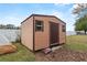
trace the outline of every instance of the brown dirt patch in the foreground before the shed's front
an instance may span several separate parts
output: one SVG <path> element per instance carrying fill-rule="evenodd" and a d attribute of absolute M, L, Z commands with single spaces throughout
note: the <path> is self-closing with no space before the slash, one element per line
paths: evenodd
<path fill-rule="evenodd" d="M 50 54 L 43 52 L 35 53 L 36 62 L 87 62 L 87 52 L 75 52 L 61 47 Z"/>

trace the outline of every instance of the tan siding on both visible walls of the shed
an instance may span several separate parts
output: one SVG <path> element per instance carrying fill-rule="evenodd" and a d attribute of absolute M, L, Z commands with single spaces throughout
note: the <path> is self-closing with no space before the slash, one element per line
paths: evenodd
<path fill-rule="evenodd" d="M 65 23 L 61 22 L 56 18 L 51 17 L 34 17 L 35 20 L 41 20 L 44 23 L 44 31 L 34 32 L 34 48 L 35 51 L 45 48 L 50 46 L 50 22 L 58 23 L 58 40 L 59 44 L 65 43 L 65 32 L 62 32 L 62 25 L 65 25 Z M 33 51 L 33 17 L 28 19 L 25 22 L 21 25 L 21 34 L 22 34 L 22 44 L 29 47 Z M 35 29 L 35 25 L 34 25 Z"/>

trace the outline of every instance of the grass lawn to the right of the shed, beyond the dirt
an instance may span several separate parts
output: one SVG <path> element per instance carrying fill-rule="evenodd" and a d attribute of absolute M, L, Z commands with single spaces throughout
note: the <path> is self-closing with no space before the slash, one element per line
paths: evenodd
<path fill-rule="evenodd" d="M 74 51 L 87 51 L 87 35 L 67 36 L 65 47 Z"/>

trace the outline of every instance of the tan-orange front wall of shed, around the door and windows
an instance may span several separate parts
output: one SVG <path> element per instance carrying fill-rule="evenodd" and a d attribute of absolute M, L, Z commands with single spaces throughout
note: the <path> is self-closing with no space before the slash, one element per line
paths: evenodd
<path fill-rule="evenodd" d="M 61 22 L 56 18 L 51 17 L 34 17 L 35 20 L 41 20 L 44 22 L 44 31 L 35 32 L 35 50 L 41 50 L 50 46 L 50 22 L 58 23 L 59 25 L 59 44 L 65 43 L 65 32 L 62 32 L 62 25 L 65 23 Z"/>

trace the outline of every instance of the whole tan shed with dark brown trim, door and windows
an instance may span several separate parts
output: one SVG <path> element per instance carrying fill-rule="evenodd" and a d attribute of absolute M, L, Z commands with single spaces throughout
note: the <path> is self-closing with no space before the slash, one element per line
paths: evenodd
<path fill-rule="evenodd" d="M 31 51 L 66 42 L 66 23 L 54 15 L 32 14 L 21 23 L 21 41 Z"/>

